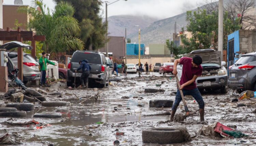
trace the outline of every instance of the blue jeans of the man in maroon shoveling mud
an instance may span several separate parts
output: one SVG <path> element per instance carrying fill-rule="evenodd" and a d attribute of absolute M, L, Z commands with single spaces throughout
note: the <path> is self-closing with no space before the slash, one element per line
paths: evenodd
<path fill-rule="evenodd" d="M 204 101 L 203 101 L 203 97 L 202 95 L 200 94 L 199 90 L 197 88 L 195 89 L 192 89 L 192 90 L 186 90 L 186 89 L 182 89 L 182 92 L 183 92 L 183 95 L 191 95 L 193 96 L 198 105 L 199 105 L 199 109 L 204 109 Z M 181 98 L 181 93 L 180 93 L 180 90 L 177 90 L 177 94 L 176 94 L 176 97 L 175 97 L 175 102 L 172 106 L 172 111 L 176 111 L 177 107 L 179 106 L 180 102 L 182 101 L 182 98 Z"/>

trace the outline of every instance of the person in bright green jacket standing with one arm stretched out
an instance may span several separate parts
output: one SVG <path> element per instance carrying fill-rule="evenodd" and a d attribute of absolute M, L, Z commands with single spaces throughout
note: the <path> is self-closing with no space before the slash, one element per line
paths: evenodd
<path fill-rule="evenodd" d="M 47 70 L 47 63 L 54 65 L 54 62 L 49 61 L 46 57 L 46 53 L 42 52 L 42 57 L 39 58 L 39 65 L 41 69 L 41 78 L 40 78 L 40 86 L 46 86 L 45 85 L 45 78 L 46 78 L 46 70 Z"/>

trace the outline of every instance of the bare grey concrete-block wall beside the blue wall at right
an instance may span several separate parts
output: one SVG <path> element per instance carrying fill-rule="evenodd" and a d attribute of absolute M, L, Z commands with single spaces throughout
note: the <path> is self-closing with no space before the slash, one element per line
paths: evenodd
<path fill-rule="evenodd" d="M 239 48 L 242 53 L 251 53 L 256 51 L 256 31 L 239 31 Z"/>

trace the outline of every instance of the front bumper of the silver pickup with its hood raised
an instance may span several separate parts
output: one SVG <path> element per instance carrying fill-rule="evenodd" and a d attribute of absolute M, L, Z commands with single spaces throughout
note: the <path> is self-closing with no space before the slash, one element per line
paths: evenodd
<path fill-rule="evenodd" d="M 221 82 L 221 79 L 224 79 Z M 211 86 L 204 86 L 203 82 L 210 81 Z M 207 76 L 207 77 L 198 77 L 196 80 L 197 88 L 198 89 L 209 89 L 209 88 L 220 88 L 223 86 L 227 86 L 228 75 L 215 75 L 215 76 Z"/>

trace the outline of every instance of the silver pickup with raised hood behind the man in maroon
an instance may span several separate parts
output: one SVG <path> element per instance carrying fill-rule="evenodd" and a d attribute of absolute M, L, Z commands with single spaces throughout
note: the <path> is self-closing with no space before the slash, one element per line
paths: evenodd
<path fill-rule="evenodd" d="M 184 54 L 184 57 L 193 58 L 194 55 L 200 55 L 203 59 L 201 64 L 203 71 L 202 75 L 196 79 L 198 89 L 220 89 L 221 93 L 228 92 L 228 75 L 225 61 L 221 60 L 221 51 L 215 51 L 214 49 L 200 49 L 194 50 L 188 54 Z M 178 77 L 180 78 L 183 68 L 177 66 Z"/>

